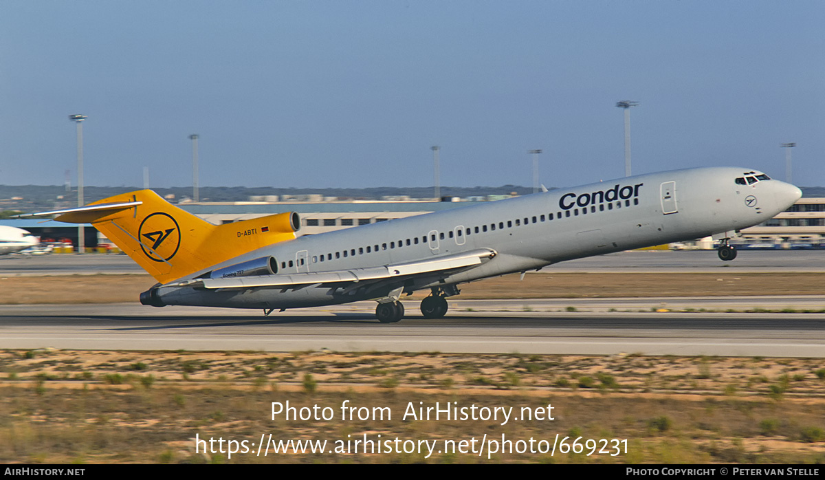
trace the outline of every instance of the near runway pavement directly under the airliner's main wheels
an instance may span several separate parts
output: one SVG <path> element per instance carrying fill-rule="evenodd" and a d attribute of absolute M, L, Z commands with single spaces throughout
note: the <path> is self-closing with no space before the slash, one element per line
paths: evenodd
<path fill-rule="evenodd" d="M 753 303 L 742 299 L 748 300 Z M 798 300 L 823 304 L 821 297 Z M 714 306 L 714 299 L 697 301 Z M 592 302 L 596 310 L 606 308 L 602 300 L 454 301 L 441 320 L 423 319 L 417 304 L 408 302 L 409 318 L 394 324 L 375 320 L 374 302 L 269 318 L 257 311 L 135 304 L 12 305 L 0 314 L 0 348 L 825 357 L 823 314 L 568 312 L 563 307 L 590 308 Z M 787 299 L 757 303 L 769 308 L 786 305 Z"/>

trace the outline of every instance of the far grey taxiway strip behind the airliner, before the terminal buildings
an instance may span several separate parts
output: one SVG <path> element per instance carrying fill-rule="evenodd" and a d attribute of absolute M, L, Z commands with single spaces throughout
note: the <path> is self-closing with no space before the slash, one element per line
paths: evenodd
<path fill-rule="evenodd" d="M 740 251 L 734 261 L 721 261 L 715 251 L 618 252 L 592 256 L 544 267 L 544 273 L 560 272 L 788 272 L 825 271 L 821 250 Z M 0 256 L 0 275 L 143 274 L 128 256 L 106 254 L 51 254 Z"/>

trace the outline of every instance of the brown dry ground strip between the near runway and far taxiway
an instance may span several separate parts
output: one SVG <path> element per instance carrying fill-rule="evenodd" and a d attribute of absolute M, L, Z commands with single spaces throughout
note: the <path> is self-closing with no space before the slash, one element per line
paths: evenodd
<path fill-rule="evenodd" d="M 0 304 L 137 302 L 154 284 L 148 275 L 0 277 Z M 818 295 L 825 292 L 825 273 L 528 273 L 524 280 L 504 275 L 460 289 L 460 299 Z"/>

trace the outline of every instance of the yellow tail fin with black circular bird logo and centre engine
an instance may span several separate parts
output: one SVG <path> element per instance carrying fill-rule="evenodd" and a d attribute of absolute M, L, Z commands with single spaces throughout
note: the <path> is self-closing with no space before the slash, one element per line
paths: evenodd
<path fill-rule="evenodd" d="M 91 223 L 161 283 L 295 238 L 300 226 L 295 213 L 213 225 L 151 190 L 111 196 L 73 210 L 56 220 Z"/>

